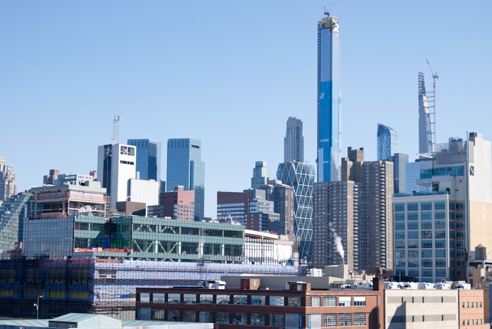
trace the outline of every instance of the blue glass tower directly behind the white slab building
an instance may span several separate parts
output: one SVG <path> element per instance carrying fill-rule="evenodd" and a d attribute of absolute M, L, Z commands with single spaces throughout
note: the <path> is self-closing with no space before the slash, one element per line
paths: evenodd
<path fill-rule="evenodd" d="M 137 147 L 138 178 L 159 182 L 161 142 L 152 139 L 128 139 L 127 144 Z"/>

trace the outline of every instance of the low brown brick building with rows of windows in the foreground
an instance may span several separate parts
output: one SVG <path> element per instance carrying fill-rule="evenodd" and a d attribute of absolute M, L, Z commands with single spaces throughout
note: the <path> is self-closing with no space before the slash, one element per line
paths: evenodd
<path fill-rule="evenodd" d="M 137 288 L 136 319 L 213 322 L 219 329 L 383 326 L 382 279 L 374 279 L 373 290 L 311 290 L 311 283 L 299 281 L 269 289 L 260 280 L 242 278 L 239 288 L 224 288 L 223 281 Z"/>

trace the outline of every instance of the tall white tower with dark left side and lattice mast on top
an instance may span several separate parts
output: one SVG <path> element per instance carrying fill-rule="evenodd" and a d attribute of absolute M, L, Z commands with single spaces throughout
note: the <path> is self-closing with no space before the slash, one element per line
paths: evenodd
<path fill-rule="evenodd" d="M 116 202 L 126 201 L 129 196 L 128 181 L 135 178 L 136 147 L 125 144 L 107 144 L 98 147 L 97 181 L 111 197 L 111 208 Z"/>

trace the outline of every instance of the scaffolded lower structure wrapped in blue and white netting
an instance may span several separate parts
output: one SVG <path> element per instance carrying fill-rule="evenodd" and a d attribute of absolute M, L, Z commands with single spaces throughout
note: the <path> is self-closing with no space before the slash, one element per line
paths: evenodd
<path fill-rule="evenodd" d="M 0 316 L 97 313 L 134 319 L 137 287 L 202 286 L 223 275 L 305 276 L 306 266 L 109 259 L 0 261 Z"/>

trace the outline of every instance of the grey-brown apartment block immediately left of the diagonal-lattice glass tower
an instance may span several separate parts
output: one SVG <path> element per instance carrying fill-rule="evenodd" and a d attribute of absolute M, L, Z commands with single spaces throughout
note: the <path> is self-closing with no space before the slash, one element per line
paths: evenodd
<path fill-rule="evenodd" d="M 267 200 L 274 202 L 274 212 L 280 216 L 280 234 L 294 236 L 295 193 L 294 188 L 279 180 L 269 180 L 260 187 L 265 190 Z"/>

